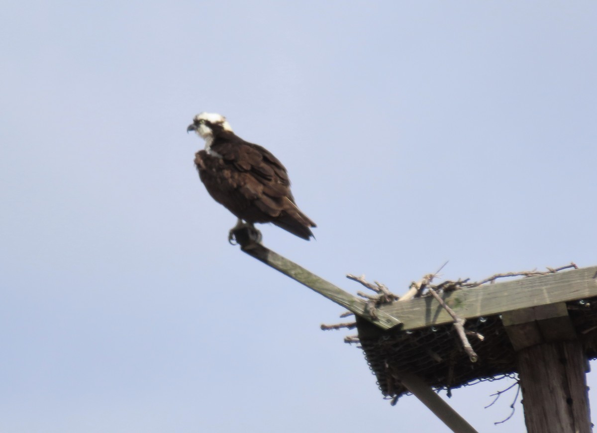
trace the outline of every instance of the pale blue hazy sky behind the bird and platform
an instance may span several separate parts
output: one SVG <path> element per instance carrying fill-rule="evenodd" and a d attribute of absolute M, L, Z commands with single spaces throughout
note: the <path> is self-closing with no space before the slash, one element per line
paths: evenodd
<path fill-rule="evenodd" d="M 341 308 L 227 243 L 201 111 L 318 224 L 346 290 L 597 265 L 595 2 L 11 1 L 0 17 L 0 431 L 443 432 L 382 400 Z M 597 389 L 592 373 L 589 385 Z M 509 422 L 506 380 L 450 403 Z M 596 411 L 593 410 L 593 413 Z"/>

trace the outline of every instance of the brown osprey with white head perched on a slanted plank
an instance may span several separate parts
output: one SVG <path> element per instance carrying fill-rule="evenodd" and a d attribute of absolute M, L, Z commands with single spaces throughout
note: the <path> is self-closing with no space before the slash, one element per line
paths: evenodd
<path fill-rule="evenodd" d="M 224 116 L 199 113 L 187 132 L 205 140 L 205 149 L 195 153 L 199 178 L 210 195 L 235 214 L 232 232 L 254 223 L 273 223 L 309 240 L 315 223 L 294 202 L 286 168 L 259 145 L 245 142 L 232 132 Z M 245 223 L 244 223 L 245 222 Z"/>

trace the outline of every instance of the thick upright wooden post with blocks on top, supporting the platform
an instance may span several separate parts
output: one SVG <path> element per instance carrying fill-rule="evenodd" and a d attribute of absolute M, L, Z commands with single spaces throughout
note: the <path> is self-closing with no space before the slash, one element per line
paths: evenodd
<path fill-rule="evenodd" d="M 512 311 L 503 323 L 517 351 L 528 433 L 590 433 L 587 360 L 566 304 Z"/>

